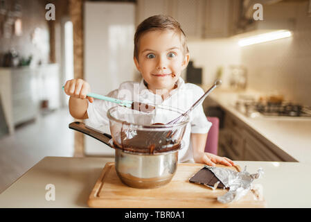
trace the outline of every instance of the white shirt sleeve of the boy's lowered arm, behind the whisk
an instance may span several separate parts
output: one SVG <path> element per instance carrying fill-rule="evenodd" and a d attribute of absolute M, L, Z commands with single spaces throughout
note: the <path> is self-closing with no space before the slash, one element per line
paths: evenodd
<path fill-rule="evenodd" d="M 202 96 L 204 94 L 202 88 L 199 87 L 197 90 L 199 96 Z M 199 99 L 199 96 L 195 99 L 195 101 Z M 197 108 L 193 110 L 192 114 L 193 118 L 191 120 L 191 133 L 201 133 L 201 134 L 208 133 L 208 130 L 211 128 L 212 123 L 207 120 L 202 104 L 198 105 Z"/>

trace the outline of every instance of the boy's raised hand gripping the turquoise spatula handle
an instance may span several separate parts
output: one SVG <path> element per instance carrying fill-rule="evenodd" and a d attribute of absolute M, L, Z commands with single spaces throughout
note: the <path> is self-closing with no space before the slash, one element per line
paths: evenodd
<path fill-rule="evenodd" d="M 80 78 L 74 78 L 66 81 L 66 84 L 64 85 L 64 91 L 69 96 L 80 99 L 88 99 L 90 103 L 93 103 L 94 101 L 92 97 L 87 96 L 87 94 L 91 92 L 89 83 Z"/>

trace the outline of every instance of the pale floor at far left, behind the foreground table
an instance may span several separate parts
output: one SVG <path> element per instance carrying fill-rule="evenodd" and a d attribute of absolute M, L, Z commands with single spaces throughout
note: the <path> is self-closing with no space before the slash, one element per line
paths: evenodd
<path fill-rule="evenodd" d="M 0 194 L 45 156 L 73 156 L 68 109 L 40 116 L 0 138 Z"/>

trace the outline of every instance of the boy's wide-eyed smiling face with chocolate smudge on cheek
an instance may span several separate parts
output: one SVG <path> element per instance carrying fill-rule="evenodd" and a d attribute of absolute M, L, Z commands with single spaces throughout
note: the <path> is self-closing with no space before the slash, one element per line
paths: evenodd
<path fill-rule="evenodd" d="M 137 69 L 148 88 L 172 89 L 177 82 L 181 71 L 189 61 L 184 55 L 179 35 L 172 31 L 150 31 L 139 40 L 139 61 L 134 58 Z"/>

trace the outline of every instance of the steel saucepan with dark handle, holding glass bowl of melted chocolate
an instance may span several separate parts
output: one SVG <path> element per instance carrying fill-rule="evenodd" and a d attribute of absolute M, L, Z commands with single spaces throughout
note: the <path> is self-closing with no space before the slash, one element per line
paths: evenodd
<path fill-rule="evenodd" d="M 118 109 L 112 108 L 107 113 L 112 135 L 88 128 L 82 122 L 70 123 L 69 128 L 115 149 L 116 173 L 125 185 L 149 189 L 168 184 L 177 170 L 178 151 L 188 119 L 173 126 L 141 125 L 122 119 L 117 113 L 124 110 Z M 128 119 L 126 115 L 123 117 Z M 141 121 L 141 117 L 134 119 Z"/>

